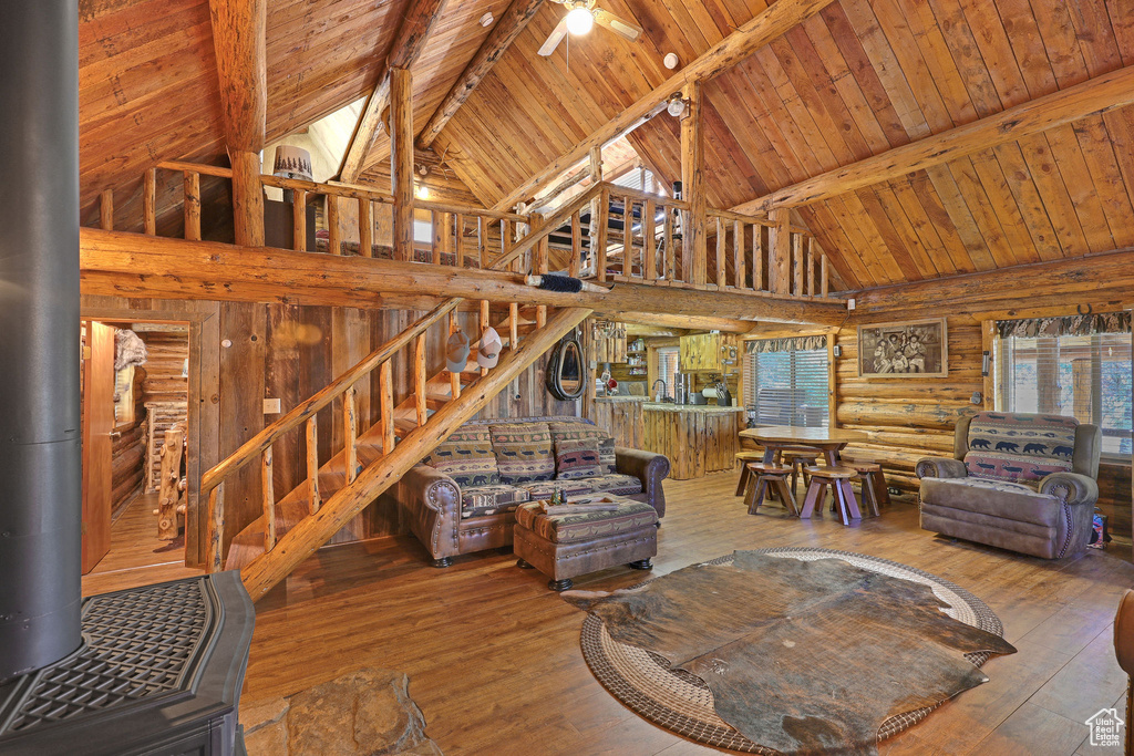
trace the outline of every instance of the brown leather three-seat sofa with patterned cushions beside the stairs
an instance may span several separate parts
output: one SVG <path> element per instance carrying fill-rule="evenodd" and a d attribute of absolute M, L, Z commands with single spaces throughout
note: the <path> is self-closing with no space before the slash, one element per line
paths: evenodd
<path fill-rule="evenodd" d="M 409 528 L 447 567 L 451 557 L 511 544 L 516 508 L 555 491 L 608 493 L 666 513 L 669 460 L 578 417 L 465 423 L 401 477 L 395 495 Z"/>

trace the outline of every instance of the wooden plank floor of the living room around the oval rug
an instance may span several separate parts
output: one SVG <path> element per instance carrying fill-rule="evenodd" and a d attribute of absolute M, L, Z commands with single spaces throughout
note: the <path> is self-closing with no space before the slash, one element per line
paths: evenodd
<path fill-rule="evenodd" d="M 999 614 L 1019 649 L 989 661 L 990 682 L 886 741 L 882 754 L 1107 753 L 1088 745 L 1083 722 L 1103 707 L 1123 711 L 1126 677 L 1115 662 L 1111 621 L 1122 592 L 1134 586 L 1128 551 L 1048 562 L 951 542 L 921 530 L 908 499 L 857 527 L 830 515 L 788 519 L 776 504 L 748 516 L 733 495 L 735 481 L 720 473 L 666 483 L 669 510 L 654 575 L 736 549 L 873 554 L 970 589 Z M 594 680 L 578 649 L 582 614 L 540 575 L 517 569 L 510 553 L 455 561 L 429 567 L 412 536 L 318 552 L 256 605 L 243 703 L 371 665 L 409 676 L 428 733 L 449 756 L 713 753 L 641 720 Z M 130 572 L 113 574 L 116 583 L 129 581 Z M 168 579 L 155 568 L 137 575 L 144 583 Z M 641 579 L 616 568 L 576 583 L 609 589 Z"/>

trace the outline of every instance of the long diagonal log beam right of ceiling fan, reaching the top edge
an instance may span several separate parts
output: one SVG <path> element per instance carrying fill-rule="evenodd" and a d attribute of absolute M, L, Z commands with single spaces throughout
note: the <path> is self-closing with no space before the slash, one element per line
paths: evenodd
<path fill-rule="evenodd" d="M 731 68 L 795 25 L 811 18 L 833 0 L 778 0 L 748 23 L 711 46 L 703 56 L 670 76 L 665 84 L 643 95 L 637 102 L 600 126 L 585 139 L 564 153 L 542 171 L 509 192 L 496 207 L 511 207 L 553 181 L 567 168 L 583 160 L 592 147 L 601 147 L 631 128 L 661 105 L 669 95 L 686 84 L 704 82 Z"/>

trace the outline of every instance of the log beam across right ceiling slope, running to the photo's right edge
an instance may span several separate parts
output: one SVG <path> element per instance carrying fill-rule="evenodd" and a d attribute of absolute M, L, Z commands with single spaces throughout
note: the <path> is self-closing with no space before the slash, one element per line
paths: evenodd
<path fill-rule="evenodd" d="M 820 173 L 739 204 L 733 210 L 754 213 L 821 202 L 1131 103 L 1134 103 L 1134 66 L 1119 68 L 995 116 Z"/>

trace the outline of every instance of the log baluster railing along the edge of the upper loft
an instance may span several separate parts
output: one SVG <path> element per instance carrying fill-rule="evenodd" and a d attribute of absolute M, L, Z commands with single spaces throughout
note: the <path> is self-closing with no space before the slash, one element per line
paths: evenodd
<path fill-rule="evenodd" d="M 143 177 L 143 230 L 156 233 L 156 171 L 183 173 L 185 238 L 201 238 L 201 176 L 231 178 L 231 170 L 186 162 L 163 162 Z M 390 212 L 390 194 L 341 184 L 319 184 L 262 176 L 261 184 L 291 193 L 293 244 L 298 252 L 393 257 L 395 250 L 374 243 L 376 212 Z M 307 207 L 324 197 L 325 218 L 308 249 Z M 100 223 L 113 229 L 113 196 L 100 197 Z M 358 219 L 357 248 L 342 238 L 339 215 L 349 210 Z M 387 210 L 389 207 L 389 211 Z M 558 270 L 599 282 L 623 281 L 651 286 L 771 294 L 790 298 L 829 296 L 829 264 L 806 229 L 752 215 L 709 209 L 704 218 L 708 247 L 696 254 L 686 238 L 692 228 L 691 203 L 649 192 L 599 182 L 547 216 L 507 213 L 472 205 L 415 199 L 415 211 L 428 213 L 429 241 L 415 241 L 412 260 L 459 267 L 494 266 L 508 257 L 513 272 Z M 396 232 L 391 238 L 396 238 Z M 325 244 L 323 239 L 325 238 Z M 711 241 L 711 244 L 709 244 Z M 516 255 L 513 250 L 518 249 Z M 558 264 L 551 265 L 555 257 Z M 700 261 L 700 262 L 699 262 Z M 543 313 L 541 311 L 541 322 Z"/>

